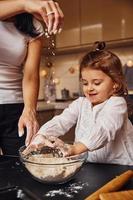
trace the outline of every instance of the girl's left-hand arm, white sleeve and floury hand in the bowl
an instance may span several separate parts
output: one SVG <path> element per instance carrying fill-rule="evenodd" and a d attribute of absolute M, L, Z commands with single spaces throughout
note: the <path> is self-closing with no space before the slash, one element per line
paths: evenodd
<path fill-rule="evenodd" d="M 64 145 L 63 141 L 57 137 L 65 134 L 77 122 L 81 103 L 82 98 L 75 100 L 62 114 L 55 116 L 52 120 L 44 124 L 24 153 L 27 154 L 43 146 L 57 147 Z"/>

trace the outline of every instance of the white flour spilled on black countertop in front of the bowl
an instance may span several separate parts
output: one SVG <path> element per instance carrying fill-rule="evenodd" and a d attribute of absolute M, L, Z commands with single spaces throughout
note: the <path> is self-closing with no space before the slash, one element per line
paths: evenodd
<path fill-rule="evenodd" d="M 63 189 L 58 190 L 50 190 L 47 192 L 44 196 L 45 197 L 55 197 L 55 196 L 64 196 L 68 198 L 73 198 L 74 194 L 77 194 L 79 191 L 83 189 L 83 187 L 88 186 L 88 183 L 72 183 L 69 185 L 69 187 L 65 187 Z"/>

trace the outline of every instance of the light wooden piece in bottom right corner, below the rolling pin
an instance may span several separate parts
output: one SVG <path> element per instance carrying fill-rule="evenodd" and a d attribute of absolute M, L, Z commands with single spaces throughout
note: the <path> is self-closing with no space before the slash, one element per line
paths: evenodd
<path fill-rule="evenodd" d="M 100 194 L 100 200 L 133 200 L 133 190 Z"/>

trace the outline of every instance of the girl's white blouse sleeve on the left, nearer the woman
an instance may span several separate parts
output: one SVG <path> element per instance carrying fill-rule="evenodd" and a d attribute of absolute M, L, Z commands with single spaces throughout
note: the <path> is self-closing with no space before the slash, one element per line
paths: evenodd
<path fill-rule="evenodd" d="M 44 124 L 39 133 L 43 135 L 64 135 L 77 122 L 79 114 L 80 98 L 73 101 L 62 114 L 55 116 L 52 120 Z"/>

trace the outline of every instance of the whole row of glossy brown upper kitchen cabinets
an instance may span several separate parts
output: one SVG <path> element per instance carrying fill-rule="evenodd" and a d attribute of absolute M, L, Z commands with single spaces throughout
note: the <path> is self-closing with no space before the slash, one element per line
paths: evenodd
<path fill-rule="evenodd" d="M 64 29 L 56 37 L 56 48 L 83 48 L 97 40 L 133 38 L 133 1 L 59 1 L 65 15 Z"/>

